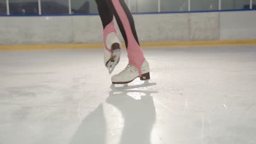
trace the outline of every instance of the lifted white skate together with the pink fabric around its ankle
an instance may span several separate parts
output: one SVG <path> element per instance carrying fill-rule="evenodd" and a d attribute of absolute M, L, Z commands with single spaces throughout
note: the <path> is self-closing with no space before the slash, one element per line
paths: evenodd
<path fill-rule="evenodd" d="M 104 28 L 104 64 L 108 69 L 109 74 L 115 68 L 115 65 L 119 63 L 120 60 L 120 50 L 121 50 L 121 41 L 119 40 L 119 35 L 114 27 L 114 21 L 110 22 Z"/>

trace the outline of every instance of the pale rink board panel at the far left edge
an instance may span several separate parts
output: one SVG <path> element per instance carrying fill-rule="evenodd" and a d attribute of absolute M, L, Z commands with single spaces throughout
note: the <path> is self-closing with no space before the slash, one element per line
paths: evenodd
<path fill-rule="evenodd" d="M 2 45 L 73 42 L 72 17 L 0 17 L 0 21 Z"/>

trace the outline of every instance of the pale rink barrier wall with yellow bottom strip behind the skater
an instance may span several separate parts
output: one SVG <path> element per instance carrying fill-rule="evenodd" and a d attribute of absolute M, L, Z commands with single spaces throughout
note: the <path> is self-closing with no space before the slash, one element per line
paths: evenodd
<path fill-rule="evenodd" d="M 222 45 L 223 40 L 232 40 L 232 44 L 251 44 L 252 41 L 249 39 L 256 39 L 255 10 L 137 14 L 134 15 L 134 19 L 139 41 L 143 47 L 195 46 L 213 43 Z M 2 16 L 0 21 L 2 49 L 7 47 L 13 47 L 8 49 L 16 49 L 15 47 L 53 49 L 53 46 L 56 46 L 55 49 L 61 46 L 62 49 L 102 47 L 102 25 L 98 15 Z"/>

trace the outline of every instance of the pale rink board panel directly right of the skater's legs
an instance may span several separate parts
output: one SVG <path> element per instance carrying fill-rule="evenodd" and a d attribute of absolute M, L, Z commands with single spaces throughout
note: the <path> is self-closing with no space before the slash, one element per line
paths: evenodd
<path fill-rule="evenodd" d="M 135 15 L 138 37 L 143 42 L 188 41 L 189 14 Z"/>

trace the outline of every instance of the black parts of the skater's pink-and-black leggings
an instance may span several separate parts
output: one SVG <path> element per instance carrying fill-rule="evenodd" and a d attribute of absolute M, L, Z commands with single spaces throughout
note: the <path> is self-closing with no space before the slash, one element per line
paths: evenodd
<path fill-rule="evenodd" d="M 135 38 L 135 40 L 137 41 L 137 43 L 139 45 L 137 32 L 136 32 L 136 29 L 135 29 L 135 23 L 133 21 L 131 11 L 127 7 L 124 0 L 119 0 L 119 1 L 120 1 L 120 4 L 121 4 L 121 7 L 123 7 L 123 9 L 125 11 L 125 14 L 128 17 L 128 20 L 130 22 L 133 37 Z M 115 16 L 115 19 L 117 20 L 117 23 L 118 23 L 118 27 L 119 27 L 122 35 L 123 35 L 123 38 L 125 40 L 125 45 L 127 47 L 127 45 L 128 45 L 127 35 L 125 33 L 125 29 L 124 29 L 124 26 L 123 26 L 123 24 L 120 20 L 120 17 L 118 16 L 117 11 L 114 8 L 112 0 L 96 0 L 96 3 L 97 3 L 97 8 L 98 8 L 98 13 L 100 14 L 100 17 L 101 17 L 101 22 L 102 22 L 103 28 L 105 28 L 110 22 L 112 22 L 113 16 Z"/>

